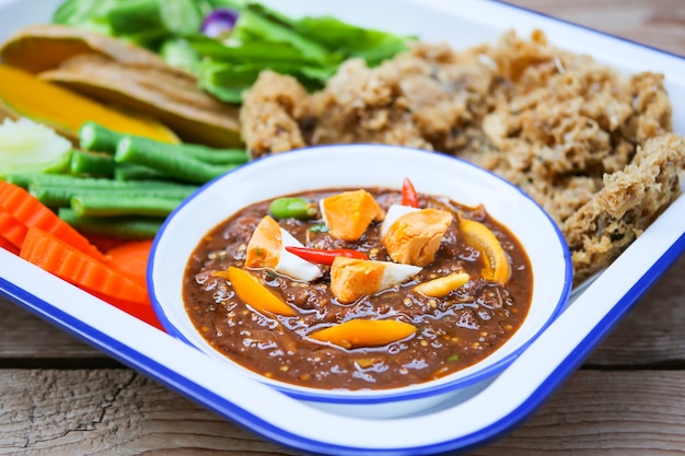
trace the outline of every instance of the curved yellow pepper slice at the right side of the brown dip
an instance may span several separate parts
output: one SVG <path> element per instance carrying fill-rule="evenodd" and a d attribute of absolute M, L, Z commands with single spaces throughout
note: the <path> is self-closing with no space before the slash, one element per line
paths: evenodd
<path fill-rule="evenodd" d="M 511 266 L 495 233 L 480 222 L 463 218 L 460 218 L 460 232 L 464 242 L 480 253 L 485 261 L 481 276 L 500 284 L 507 283 Z"/>

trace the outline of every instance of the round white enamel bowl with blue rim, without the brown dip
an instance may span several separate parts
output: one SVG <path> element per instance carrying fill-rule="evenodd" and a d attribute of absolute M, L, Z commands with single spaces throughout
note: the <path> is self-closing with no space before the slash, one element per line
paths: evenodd
<path fill-rule="evenodd" d="M 519 238 L 533 266 L 529 315 L 514 336 L 479 363 L 443 378 L 382 390 L 326 390 L 275 382 L 241 367 L 208 344 L 182 300 L 188 258 L 200 238 L 242 208 L 265 199 L 325 188 L 398 188 L 405 177 L 423 194 L 486 210 Z M 572 282 L 568 247 L 556 224 L 527 195 L 498 176 L 439 153 L 373 144 L 317 147 L 254 161 L 205 185 L 165 222 L 148 269 L 158 316 L 167 332 L 282 393 L 336 412 L 388 418 L 417 413 L 488 382 L 562 311 Z M 212 375 L 208 372 L 207 375 Z M 227 378 L 230 382 L 230 378 Z M 255 398 L 258 400 L 258 398 Z"/>

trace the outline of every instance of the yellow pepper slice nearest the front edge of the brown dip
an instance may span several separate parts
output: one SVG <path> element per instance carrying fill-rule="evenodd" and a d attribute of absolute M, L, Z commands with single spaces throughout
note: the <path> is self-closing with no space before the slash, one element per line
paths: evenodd
<path fill-rule="evenodd" d="M 416 327 L 394 319 L 351 319 L 310 334 L 312 339 L 353 349 L 382 347 L 416 332 Z"/>

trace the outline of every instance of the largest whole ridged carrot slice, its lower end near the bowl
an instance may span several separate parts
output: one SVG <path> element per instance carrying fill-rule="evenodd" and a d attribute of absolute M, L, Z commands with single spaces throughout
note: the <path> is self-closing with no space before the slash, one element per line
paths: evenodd
<path fill-rule="evenodd" d="M 86 291 L 131 303 L 148 303 L 144 287 L 35 226 L 28 229 L 20 256 Z"/>

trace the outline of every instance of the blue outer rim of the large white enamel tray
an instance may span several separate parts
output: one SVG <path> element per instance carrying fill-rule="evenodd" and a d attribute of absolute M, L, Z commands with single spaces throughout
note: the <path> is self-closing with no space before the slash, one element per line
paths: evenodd
<path fill-rule="evenodd" d="M 565 23 L 579 30 L 585 30 L 599 35 L 608 36 L 619 42 L 630 43 L 632 45 L 651 49 L 660 54 L 669 55 L 678 59 L 684 59 L 673 52 L 653 48 L 641 43 L 618 37 L 605 32 L 596 31 L 588 26 L 578 25 L 570 21 L 565 21 L 544 13 L 529 10 L 526 8 L 514 5 L 501 0 L 488 0 L 492 3 L 500 3 L 508 8 L 525 11 L 532 15 L 543 16 L 552 21 Z M 138 352 L 117 339 L 102 332 L 98 329 L 81 321 L 77 317 L 66 313 L 47 301 L 44 301 L 26 290 L 13 284 L 9 280 L 0 277 L 0 295 L 20 304 L 38 317 L 54 324 L 60 329 L 78 337 L 79 339 L 90 343 L 91 346 L 102 350 L 112 358 L 121 363 L 142 372 L 169 388 L 201 404 L 204 407 L 219 413 L 220 416 L 241 424 L 251 431 L 262 435 L 263 437 L 285 445 L 298 451 L 304 451 L 315 454 L 336 454 L 336 455 L 359 455 L 360 452 L 367 455 L 378 456 L 414 456 L 414 455 L 433 455 L 446 452 L 465 452 L 469 448 L 481 446 L 488 442 L 496 440 L 512 429 L 521 424 L 530 417 L 558 387 L 572 374 L 582 363 L 585 356 L 603 340 L 615 326 L 627 315 L 639 299 L 673 265 L 675 260 L 685 252 L 685 233 L 680 237 L 654 261 L 650 268 L 637 280 L 627 293 L 625 293 L 612 306 L 603 318 L 595 323 L 592 330 L 574 347 L 574 349 L 566 355 L 546 376 L 546 378 L 530 394 L 525 400 L 516 406 L 511 412 L 496 420 L 494 423 L 480 428 L 466 435 L 436 442 L 421 446 L 393 447 L 393 448 L 367 448 L 358 446 L 342 446 L 329 444 L 303 437 L 292 432 L 282 430 L 281 428 L 269 423 L 244 408 L 237 407 L 230 400 L 198 385 L 197 383 L 186 378 L 178 372 L 152 360 L 151 358 Z"/>

